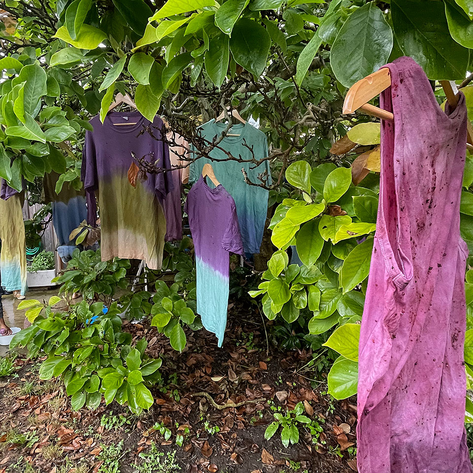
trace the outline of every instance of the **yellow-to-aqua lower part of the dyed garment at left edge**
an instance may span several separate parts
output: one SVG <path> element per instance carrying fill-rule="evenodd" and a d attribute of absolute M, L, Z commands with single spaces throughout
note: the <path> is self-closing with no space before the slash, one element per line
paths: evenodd
<path fill-rule="evenodd" d="M 22 196 L 0 199 L 0 270 L 1 284 L 7 291 L 26 292 L 25 226 L 21 210 Z"/>

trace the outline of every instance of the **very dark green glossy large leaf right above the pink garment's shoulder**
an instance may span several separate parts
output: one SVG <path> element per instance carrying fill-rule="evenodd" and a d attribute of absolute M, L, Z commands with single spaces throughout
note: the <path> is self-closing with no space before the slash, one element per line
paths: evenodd
<path fill-rule="evenodd" d="M 424 69 L 429 79 L 462 79 L 468 68 L 468 49 L 455 42 L 448 30 L 441 1 L 391 2 L 396 39 L 406 56 Z"/>

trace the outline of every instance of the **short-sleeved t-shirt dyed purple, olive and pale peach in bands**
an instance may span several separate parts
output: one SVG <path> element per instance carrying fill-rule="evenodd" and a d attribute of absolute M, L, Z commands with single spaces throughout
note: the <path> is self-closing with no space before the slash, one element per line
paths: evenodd
<path fill-rule="evenodd" d="M 124 120 L 136 125 L 115 126 Z M 89 224 L 95 224 L 94 194 L 98 191 L 101 219 L 102 261 L 113 257 L 143 260 L 148 268 L 160 269 L 163 260 L 166 219 L 162 203 L 172 189 L 168 173 L 145 174 L 136 187 L 128 169 L 136 157 L 170 169 L 169 148 L 162 138 L 163 121 L 151 124 L 139 112 L 109 112 L 102 124 L 96 116 L 86 132 L 82 181 L 88 194 Z M 144 130 L 151 126 L 154 139 Z M 161 139 L 160 139 L 161 138 Z"/>

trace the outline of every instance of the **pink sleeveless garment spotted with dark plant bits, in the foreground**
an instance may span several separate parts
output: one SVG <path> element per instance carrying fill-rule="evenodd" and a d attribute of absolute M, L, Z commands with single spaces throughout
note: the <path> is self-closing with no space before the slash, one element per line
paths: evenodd
<path fill-rule="evenodd" d="M 471 473 L 466 434 L 462 95 L 444 113 L 400 58 L 381 107 L 381 186 L 358 375 L 360 473 Z"/>

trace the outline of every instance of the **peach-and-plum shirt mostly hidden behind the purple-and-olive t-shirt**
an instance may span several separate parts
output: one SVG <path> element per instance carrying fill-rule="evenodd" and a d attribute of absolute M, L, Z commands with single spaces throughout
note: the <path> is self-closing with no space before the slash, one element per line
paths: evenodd
<path fill-rule="evenodd" d="M 189 143 L 180 135 L 169 132 L 167 137 L 175 146 L 169 147 L 171 167 L 184 166 L 189 153 Z M 173 169 L 170 172 L 172 191 L 166 196 L 164 214 L 166 216 L 166 241 L 182 239 L 182 184 L 189 180 L 189 167 Z"/>

